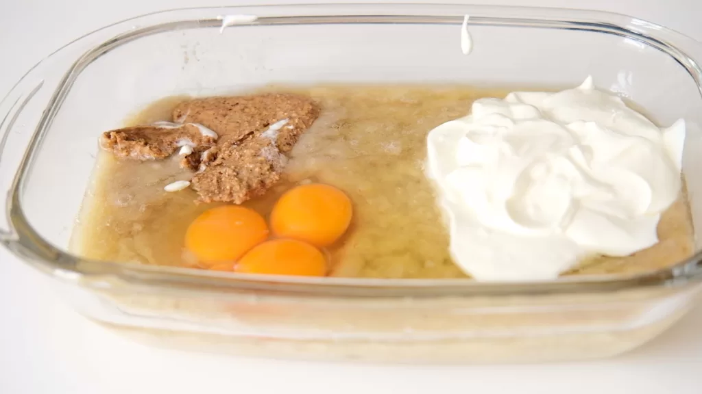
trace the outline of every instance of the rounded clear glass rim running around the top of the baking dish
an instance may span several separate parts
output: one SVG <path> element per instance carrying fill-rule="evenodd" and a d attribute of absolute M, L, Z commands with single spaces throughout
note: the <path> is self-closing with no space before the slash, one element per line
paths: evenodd
<path fill-rule="evenodd" d="M 267 15 L 271 11 L 298 11 L 294 15 Z M 319 11 L 321 10 L 321 11 Z M 383 11 L 380 15 L 373 12 Z M 190 13 L 212 12 L 210 18 L 188 18 Z M 234 11 L 234 12 L 226 12 Z M 236 12 L 239 11 L 239 12 Z M 256 12 L 259 11 L 259 12 Z M 263 14 L 261 13 L 263 12 Z M 307 11 L 307 13 L 303 13 Z M 311 11 L 318 11 L 313 13 Z M 344 13 L 341 13 L 344 11 Z M 431 11 L 428 13 L 428 11 Z M 459 12 L 461 11 L 461 12 Z M 702 70 L 696 61 L 680 46 L 698 50 L 702 46 L 683 34 L 661 27 L 651 22 L 628 15 L 603 11 L 570 10 L 565 8 L 532 8 L 512 6 L 471 6 L 459 4 L 297 4 L 232 7 L 197 7 L 157 11 L 129 18 L 121 22 L 97 29 L 68 43 L 46 57 L 25 74 L 20 83 L 32 74 L 39 65 L 47 62 L 62 50 L 75 43 L 88 39 L 108 29 L 123 27 L 121 32 L 110 39 L 86 50 L 62 77 L 58 88 L 44 109 L 37 128 L 30 138 L 26 151 L 15 172 L 8 191 L 7 212 L 11 233 L 0 231 L 0 243 L 15 252 L 20 259 L 26 259 L 41 271 L 60 280 L 69 280 L 86 287 L 105 288 L 117 285 L 119 281 L 127 285 L 143 285 L 154 288 L 180 288 L 199 291 L 216 289 L 254 290 L 276 294 L 310 294 L 340 297 L 446 297 L 459 295 L 515 295 L 569 292 L 607 292 L 651 286 L 672 286 L 696 283 L 702 279 L 702 251 L 680 261 L 674 266 L 645 273 L 630 275 L 566 276 L 545 282 L 486 283 L 471 279 L 372 279 L 372 278 L 298 278 L 286 276 L 256 276 L 235 273 L 219 273 L 176 267 L 121 264 L 112 261 L 93 261 L 74 256 L 60 250 L 44 240 L 29 224 L 22 212 L 21 193 L 25 180 L 32 170 L 34 157 L 41 140 L 51 127 L 53 116 L 61 107 L 72 83 L 88 64 L 117 46 L 150 34 L 175 29 L 220 27 L 222 22 L 215 15 L 232 13 L 253 13 L 259 15 L 255 22 L 244 25 L 314 25 L 331 23 L 403 23 L 403 24 L 451 24 L 460 25 L 463 15 L 471 15 L 470 25 L 494 25 L 512 27 L 541 27 L 550 29 L 575 29 L 588 32 L 614 34 L 635 39 L 648 46 L 663 51 L 673 57 L 687 70 L 702 94 Z M 488 15 L 488 16 L 482 16 Z M 490 16 L 492 15 L 492 16 Z M 496 16 L 500 15 L 500 16 Z M 165 19 L 150 22 L 150 19 Z M 625 25 L 631 22 L 632 25 Z M 140 27 L 136 27 L 140 26 Z M 665 37 L 663 37 L 665 36 Z M 661 37 L 661 38 L 659 38 Z M 667 39 L 667 40 L 666 40 Z M 675 45 L 677 43 L 677 45 Z M 41 84 L 25 95 L 23 101 L 13 104 L 17 114 L 39 90 Z M 11 99 L 8 94 L 2 103 Z M 20 97 L 21 98 L 21 97 Z M 0 107 L 2 107 L 0 106 Z M 8 113 L 9 115 L 9 113 Z M 9 130 L 14 117 L 6 116 L 2 123 Z M 1 126 L 1 125 L 0 125 Z M 4 149 L 7 134 L 0 139 L 0 153 Z M 117 279 L 115 282 L 112 279 Z"/>

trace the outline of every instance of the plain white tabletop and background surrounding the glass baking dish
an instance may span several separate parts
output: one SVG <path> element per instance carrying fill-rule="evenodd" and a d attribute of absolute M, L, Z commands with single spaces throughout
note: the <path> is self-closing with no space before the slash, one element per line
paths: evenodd
<path fill-rule="evenodd" d="M 44 55 L 93 29 L 168 8 L 237 3 L 0 0 L 0 95 Z M 696 0 L 482 4 L 614 11 L 702 39 L 702 1 Z M 702 393 L 702 332 L 698 327 L 702 327 L 702 307 L 638 351 L 612 360 L 557 365 L 408 367 L 181 353 L 134 344 L 85 320 L 57 299 L 48 278 L 0 249 L 0 394 Z"/>

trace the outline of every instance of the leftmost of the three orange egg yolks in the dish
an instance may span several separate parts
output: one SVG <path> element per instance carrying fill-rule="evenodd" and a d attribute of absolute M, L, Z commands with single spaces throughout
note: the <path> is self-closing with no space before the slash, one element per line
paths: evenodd
<path fill-rule="evenodd" d="M 206 210 L 187 228 L 185 248 L 203 264 L 238 259 L 268 237 L 258 212 L 225 205 Z"/>

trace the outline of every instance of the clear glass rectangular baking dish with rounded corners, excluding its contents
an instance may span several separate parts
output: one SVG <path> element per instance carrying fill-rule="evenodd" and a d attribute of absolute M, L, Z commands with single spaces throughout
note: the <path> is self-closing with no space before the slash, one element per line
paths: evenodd
<path fill-rule="evenodd" d="M 220 31 L 222 15 L 257 20 Z M 473 52 L 460 50 L 470 15 Z M 362 4 L 192 8 L 69 43 L 0 104 L 0 239 L 78 311 L 136 339 L 248 355 L 390 362 L 520 362 L 628 351 L 698 292 L 700 254 L 648 273 L 548 283 L 237 276 L 67 252 L 97 137 L 161 97 L 267 83 L 576 86 L 592 75 L 658 123 L 684 118 L 684 174 L 702 219 L 701 46 L 610 13 Z M 698 201 L 701 200 L 701 201 Z M 5 264 L 7 264 L 5 262 Z"/>

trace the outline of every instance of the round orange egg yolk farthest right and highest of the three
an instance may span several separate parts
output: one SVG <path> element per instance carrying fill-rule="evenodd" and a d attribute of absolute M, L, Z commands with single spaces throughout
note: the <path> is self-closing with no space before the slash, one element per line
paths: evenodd
<path fill-rule="evenodd" d="M 277 236 L 331 245 L 351 222 L 350 199 L 336 187 L 305 184 L 286 191 L 274 205 L 270 226 Z"/>

